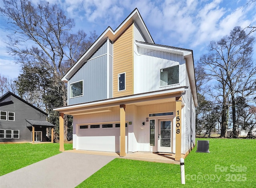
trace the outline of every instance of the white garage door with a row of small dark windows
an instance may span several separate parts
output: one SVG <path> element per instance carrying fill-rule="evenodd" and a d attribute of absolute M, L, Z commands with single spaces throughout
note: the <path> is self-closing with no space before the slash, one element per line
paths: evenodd
<path fill-rule="evenodd" d="M 128 127 L 126 123 L 126 152 L 128 146 Z M 120 152 L 120 124 L 79 125 L 77 137 L 78 150 Z"/>

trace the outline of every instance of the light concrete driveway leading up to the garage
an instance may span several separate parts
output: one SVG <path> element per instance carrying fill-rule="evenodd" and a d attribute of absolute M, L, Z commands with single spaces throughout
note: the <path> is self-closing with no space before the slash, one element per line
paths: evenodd
<path fill-rule="evenodd" d="M 114 158 L 62 152 L 0 176 L 0 188 L 74 188 Z"/>

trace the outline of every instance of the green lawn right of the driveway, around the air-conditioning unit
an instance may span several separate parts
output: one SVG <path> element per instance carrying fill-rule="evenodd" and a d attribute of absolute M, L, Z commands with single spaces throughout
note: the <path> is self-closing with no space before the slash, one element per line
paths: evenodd
<path fill-rule="evenodd" d="M 198 140 L 210 141 L 210 153 L 195 147 L 185 158 L 185 185 L 177 164 L 116 158 L 77 187 L 255 187 L 256 140 Z"/>

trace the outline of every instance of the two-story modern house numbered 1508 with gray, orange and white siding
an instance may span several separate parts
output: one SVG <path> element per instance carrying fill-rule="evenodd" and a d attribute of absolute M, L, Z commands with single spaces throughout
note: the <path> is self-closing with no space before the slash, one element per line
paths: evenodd
<path fill-rule="evenodd" d="M 108 27 L 63 76 L 73 116 L 73 148 L 187 155 L 195 142 L 193 52 L 155 44 L 135 9 Z M 60 136 L 60 150 L 64 150 Z"/>

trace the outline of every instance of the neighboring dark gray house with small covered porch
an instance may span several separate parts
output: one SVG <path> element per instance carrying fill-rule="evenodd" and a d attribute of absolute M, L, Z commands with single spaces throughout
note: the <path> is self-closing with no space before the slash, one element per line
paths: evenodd
<path fill-rule="evenodd" d="M 0 142 L 48 141 L 46 128 L 52 128 L 53 135 L 55 125 L 46 121 L 47 116 L 44 111 L 8 91 L 0 98 Z"/>

